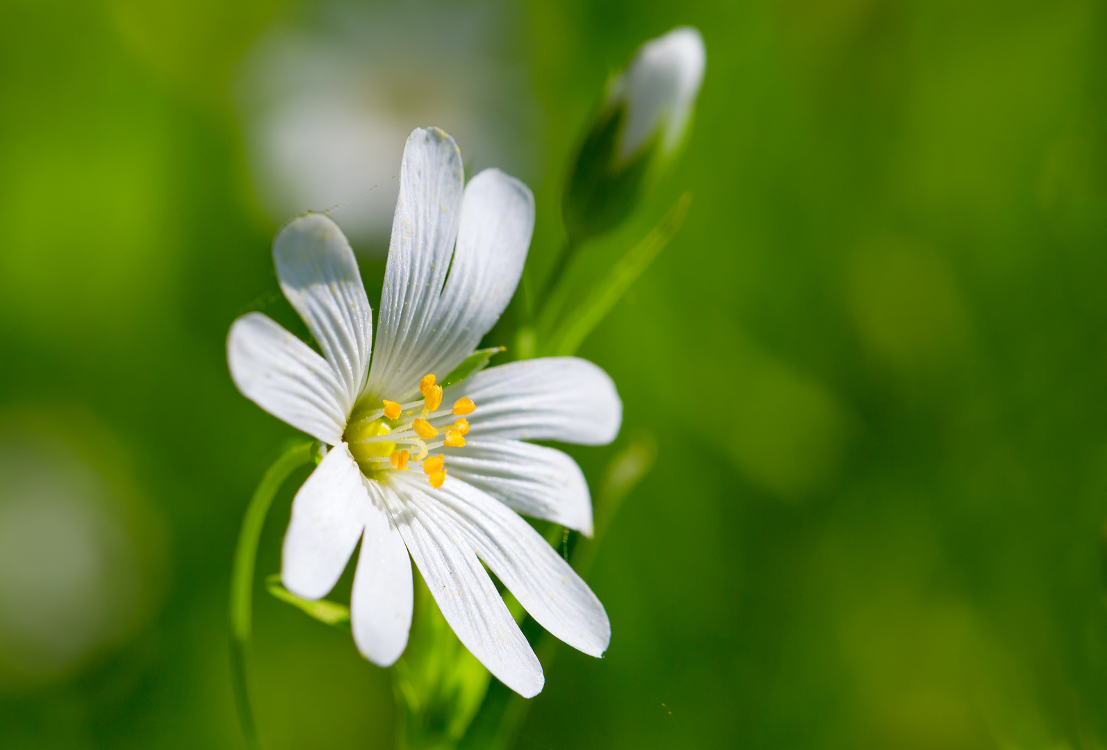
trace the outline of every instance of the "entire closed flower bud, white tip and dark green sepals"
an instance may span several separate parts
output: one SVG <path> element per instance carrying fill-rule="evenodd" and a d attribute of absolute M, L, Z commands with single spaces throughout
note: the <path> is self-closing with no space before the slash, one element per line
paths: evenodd
<path fill-rule="evenodd" d="M 566 183 L 562 216 L 572 241 L 621 223 L 672 160 L 705 64 L 700 32 L 680 27 L 644 43 L 611 81 Z"/>

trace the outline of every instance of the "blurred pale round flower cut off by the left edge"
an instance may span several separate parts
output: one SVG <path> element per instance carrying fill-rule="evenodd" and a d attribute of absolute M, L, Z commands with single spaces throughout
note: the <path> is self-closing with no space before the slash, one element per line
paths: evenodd
<path fill-rule="evenodd" d="M 153 570 L 127 502 L 64 441 L 0 425 L 0 666 L 69 673 L 148 611 Z"/>

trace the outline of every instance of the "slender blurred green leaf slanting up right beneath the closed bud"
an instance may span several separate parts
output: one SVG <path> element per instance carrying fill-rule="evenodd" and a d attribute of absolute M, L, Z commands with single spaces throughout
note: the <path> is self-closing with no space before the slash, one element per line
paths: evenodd
<path fill-rule="evenodd" d="M 615 303 L 642 275 L 658 253 L 669 243 L 687 216 L 692 196 L 685 192 L 669 213 L 645 237 L 635 242 L 622 258 L 589 291 L 584 301 L 557 325 L 541 343 L 542 354 L 566 356 L 576 354 L 588 334 L 611 312 Z"/>

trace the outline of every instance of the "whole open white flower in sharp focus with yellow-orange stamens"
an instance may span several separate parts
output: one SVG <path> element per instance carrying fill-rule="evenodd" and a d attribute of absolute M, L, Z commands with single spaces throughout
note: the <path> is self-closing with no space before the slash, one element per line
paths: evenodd
<path fill-rule="evenodd" d="M 454 139 L 415 129 L 370 366 L 372 312 L 353 252 L 327 217 L 273 243 L 281 289 L 323 356 L 260 313 L 227 342 L 239 390 L 331 446 L 292 503 L 281 579 L 325 595 L 354 546 L 353 637 L 371 662 L 403 653 L 414 559 L 443 616 L 488 670 L 524 696 L 544 677 L 482 562 L 555 636 L 600 656 L 611 627 L 588 585 L 515 511 L 590 534 L 588 486 L 571 458 L 523 440 L 602 445 L 622 404 L 576 357 L 489 367 L 443 388 L 511 299 L 534 229 L 534 197 L 496 169 L 464 186 Z"/>

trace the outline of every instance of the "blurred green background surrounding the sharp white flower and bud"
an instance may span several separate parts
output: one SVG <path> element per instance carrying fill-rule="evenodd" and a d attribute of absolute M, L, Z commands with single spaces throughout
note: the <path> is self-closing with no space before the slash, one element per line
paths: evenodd
<path fill-rule="evenodd" d="M 682 23 L 707 73 L 656 200 L 694 201 L 581 352 L 623 437 L 573 451 L 593 481 L 643 430 L 659 459 L 590 575 L 611 648 L 561 650 L 518 747 L 1107 746 L 1104 3 L 0 11 L 0 747 L 242 747 L 231 551 L 296 436 L 224 342 L 251 309 L 296 325 L 269 244 L 329 208 L 276 195 L 313 131 L 272 113 L 375 72 L 350 131 L 392 107 L 381 181 L 442 125 L 535 189 L 540 272 L 607 76 Z M 375 305 L 380 226 L 351 236 Z M 255 663 L 270 747 L 392 747 L 387 675 L 260 585 Z"/>

